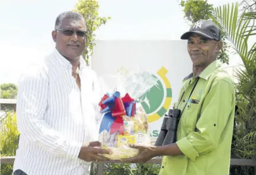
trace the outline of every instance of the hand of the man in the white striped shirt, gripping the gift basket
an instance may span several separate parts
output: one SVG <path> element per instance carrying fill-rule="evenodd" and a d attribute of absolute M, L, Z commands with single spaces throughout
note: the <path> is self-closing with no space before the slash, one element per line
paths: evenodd
<path fill-rule="evenodd" d="M 98 141 L 85 142 L 80 150 L 78 158 L 84 161 L 107 161 L 108 158 L 98 154 L 111 154 L 111 151 L 100 148 L 101 144 Z"/>

